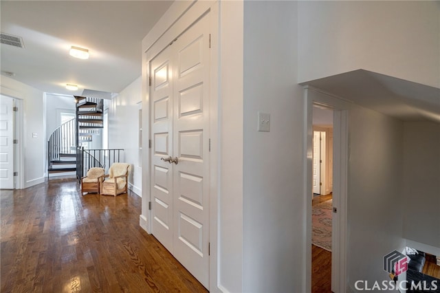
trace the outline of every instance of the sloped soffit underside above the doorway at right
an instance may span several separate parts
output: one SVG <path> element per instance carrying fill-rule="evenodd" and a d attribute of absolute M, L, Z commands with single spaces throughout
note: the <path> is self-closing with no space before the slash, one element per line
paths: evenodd
<path fill-rule="evenodd" d="M 440 123 L 440 89 L 437 87 L 363 69 L 311 80 L 303 85 L 322 89 L 399 120 Z"/>

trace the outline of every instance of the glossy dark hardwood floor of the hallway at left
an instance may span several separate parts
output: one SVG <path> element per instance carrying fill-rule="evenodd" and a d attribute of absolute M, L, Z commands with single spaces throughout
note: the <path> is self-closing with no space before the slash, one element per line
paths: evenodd
<path fill-rule="evenodd" d="M 51 178 L 0 196 L 1 292 L 207 292 L 140 228 L 134 193 Z"/>

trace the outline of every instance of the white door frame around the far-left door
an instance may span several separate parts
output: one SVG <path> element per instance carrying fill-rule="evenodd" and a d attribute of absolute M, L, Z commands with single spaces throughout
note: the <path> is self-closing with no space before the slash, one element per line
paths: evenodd
<path fill-rule="evenodd" d="M 19 91 L 8 89 L 7 87 L 0 87 L 0 94 L 12 98 L 14 100 L 14 107 L 18 108 L 18 111 L 14 113 L 14 139 L 18 140 L 17 146 L 14 146 L 14 172 L 18 172 L 17 176 L 14 176 L 14 189 L 25 188 L 25 166 L 23 160 L 23 145 L 24 145 L 24 122 L 23 111 L 25 96 Z"/>

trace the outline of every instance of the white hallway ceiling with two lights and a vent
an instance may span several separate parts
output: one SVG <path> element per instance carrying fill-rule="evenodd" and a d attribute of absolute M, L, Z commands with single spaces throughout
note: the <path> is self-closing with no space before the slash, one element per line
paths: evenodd
<path fill-rule="evenodd" d="M 1 44 L 1 74 L 52 94 L 119 93 L 141 75 L 142 39 L 171 3 L 1 0 L 1 32 L 24 44 Z M 72 45 L 90 58 L 69 56 Z"/>

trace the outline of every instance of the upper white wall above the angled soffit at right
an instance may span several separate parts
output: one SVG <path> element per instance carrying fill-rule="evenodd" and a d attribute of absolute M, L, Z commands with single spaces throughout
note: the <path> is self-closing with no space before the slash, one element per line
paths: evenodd
<path fill-rule="evenodd" d="M 366 69 L 440 86 L 438 1 L 299 1 L 299 80 Z"/>

